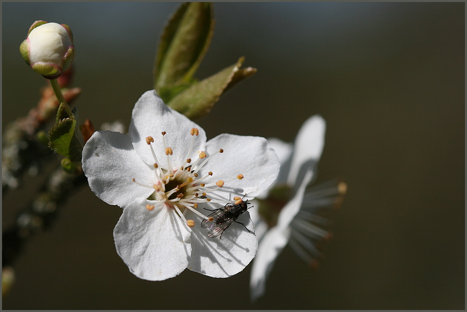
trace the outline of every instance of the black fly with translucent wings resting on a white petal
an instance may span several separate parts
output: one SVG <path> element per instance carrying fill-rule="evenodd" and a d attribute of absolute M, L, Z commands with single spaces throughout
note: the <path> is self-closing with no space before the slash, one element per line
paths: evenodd
<path fill-rule="evenodd" d="M 221 235 L 222 238 L 222 233 L 234 222 L 237 222 L 237 218 L 249 208 L 248 204 L 251 203 L 248 200 L 243 201 L 240 197 L 234 197 L 234 200 L 235 203 L 226 203 L 222 208 L 214 210 L 205 208 L 206 210 L 214 211 L 208 215 L 208 217 L 213 218 L 212 221 L 208 219 L 201 221 L 201 227 L 209 227 L 208 237 L 214 238 Z M 242 224 L 251 233 L 245 224 L 241 222 L 237 223 Z"/>

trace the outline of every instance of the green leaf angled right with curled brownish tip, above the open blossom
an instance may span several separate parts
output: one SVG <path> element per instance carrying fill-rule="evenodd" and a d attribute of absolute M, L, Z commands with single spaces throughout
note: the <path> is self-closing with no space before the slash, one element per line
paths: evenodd
<path fill-rule="evenodd" d="M 234 84 L 256 72 L 255 68 L 240 68 L 244 57 L 214 75 L 194 83 L 167 103 L 190 119 L 203 117 L 219 100 L 219 96 Z"/>

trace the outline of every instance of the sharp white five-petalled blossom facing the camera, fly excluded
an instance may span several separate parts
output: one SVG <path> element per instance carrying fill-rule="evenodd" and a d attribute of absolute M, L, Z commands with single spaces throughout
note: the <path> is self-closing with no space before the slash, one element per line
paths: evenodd
<path fill-rule="evenodd" d="M 135 104 L 129 135 L 97 131 L 83 149 L 94 193 L 123 207 L 114 229 L 118 254 L 136 276 L 163 280 L 186 267 L 213 277 L 241 271 L 257 239 L 248 211 L 222 235 L 200 226 L 206 209 L 251 199 L 272 184 L 279 159 L 263 137 L 204 130 L 165 105 L 154 90 Z M 251 230 L 252 232 L 250 232 Z"/>

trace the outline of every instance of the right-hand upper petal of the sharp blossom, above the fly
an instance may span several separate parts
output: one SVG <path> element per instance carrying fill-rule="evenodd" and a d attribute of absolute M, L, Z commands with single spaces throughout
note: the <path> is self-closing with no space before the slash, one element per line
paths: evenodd
<path fill-rule="evenodd" d="M 201 175 L 212 171 L 213 175 L 205 183 L 225 181 L 215 193 L 224 199 L 229 194 L 245 198 L 256 197 L 265 191 L 279 173 L 279 158 L 264 137 L 220 134 L 206 143 L 208 155 L 224 149 L 208 160 L 200 170 Z M 243 174 L 243 179 L 236 176 Z"/>

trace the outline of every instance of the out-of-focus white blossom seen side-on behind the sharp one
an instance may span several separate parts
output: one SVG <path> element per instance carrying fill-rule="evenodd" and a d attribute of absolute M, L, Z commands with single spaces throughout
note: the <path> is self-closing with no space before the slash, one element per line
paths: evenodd
<path fill-rule="evenodd" d="M 325 127 L 324 119 L 315 115 L 303 123 L 295 144 L 269 139 L 281 168 L 275 183 L 253 201 L 250 209 L 259 240 L 250 276 L 252 300 L 264 293 L 266 278 L 287 243 L 314 265 L 314 258 L 320 255 L 315 242 L 329 238 L 329 232 L 313 224 L 325 224 L 326 219 L 314 212 L 338 202 L 345 183 L 331 181 L 306 190 L 324 147 Z"/>

